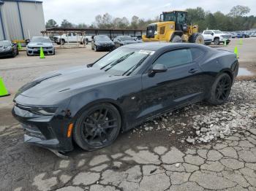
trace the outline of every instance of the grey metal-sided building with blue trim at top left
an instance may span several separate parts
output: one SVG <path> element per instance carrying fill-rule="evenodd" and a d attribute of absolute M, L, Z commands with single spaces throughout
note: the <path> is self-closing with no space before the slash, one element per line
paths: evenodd
<path fill-rule="evenodd" d="M 42 1 L 0 0 L 0 40 L 42 36 L 45 17 Z"/>

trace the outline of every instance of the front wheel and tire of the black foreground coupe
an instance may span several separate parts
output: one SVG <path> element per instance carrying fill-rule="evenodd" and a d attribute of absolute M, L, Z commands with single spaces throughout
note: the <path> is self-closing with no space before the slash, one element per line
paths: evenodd
<path fill-rule="evenodd" d="M 92 151 L 112 144 L 121 129 L 121 116 L 112 104 L 85 109 L 75 122 L 73 138 L 84 150 Z"/>

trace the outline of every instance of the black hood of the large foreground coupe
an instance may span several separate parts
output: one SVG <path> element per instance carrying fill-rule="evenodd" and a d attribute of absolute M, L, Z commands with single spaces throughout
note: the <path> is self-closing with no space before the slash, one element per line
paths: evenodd
<path fill-rule="evenodd" d="M 124 77 L 111 76 L 97 68 L 78 66 L 62 71 L 55 71 L 34 79 L 18 90 L 18 94 L 30 98 L 49 98 L 72 95 L 84 90 L 90 90 L 97 85 L 111 82 Z M 16 95 L 17 96 L 17 95 Z"/>

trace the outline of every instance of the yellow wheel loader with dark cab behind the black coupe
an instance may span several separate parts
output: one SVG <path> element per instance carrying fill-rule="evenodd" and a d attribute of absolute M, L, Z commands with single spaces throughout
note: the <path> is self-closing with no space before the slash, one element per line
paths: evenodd
<path fill-rule="evenodd" d="M 143 42 L 192 42 L 204 44 L 198 26 L 187 25 L 186 11 L 162 12 L 158 23 L 147 26 Z"/>

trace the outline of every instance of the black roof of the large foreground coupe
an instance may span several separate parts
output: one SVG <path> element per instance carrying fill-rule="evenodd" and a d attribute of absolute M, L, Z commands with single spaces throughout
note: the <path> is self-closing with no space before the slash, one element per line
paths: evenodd
<path fill-rule="evenodd" d="M 145 43 L 136 43 L 136 44 L 128 44 L 123 47 L 134 48 L 139 50 L 153 50 L 157 51 L 159 49 L 172 49 L 178 47 L 204 47 L 201 44 L 195 43 L 170 43 L 170 42 L 145 42 Z"/>

